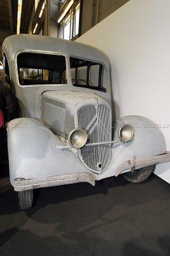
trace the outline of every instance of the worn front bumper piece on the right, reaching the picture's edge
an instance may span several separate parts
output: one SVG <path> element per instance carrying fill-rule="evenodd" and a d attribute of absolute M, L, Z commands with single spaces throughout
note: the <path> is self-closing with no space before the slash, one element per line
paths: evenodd
<path fill-rule="evenodd" d="M 132 156 L 131 160 L 125 161 L 124 163 L 120 164 L 120 166 L 118 166 L 115 172 L 115 176 L 117 177 L 121 172 L 125 170 L 134 171 L 136 168 L 142 168 L 145 166 L 165 163 L 169 161 L 170 161 L 170 151 L 167 151 L 166 154 L 162 154 L 159 156 L 152 156 L 152 157 L 136 158 L 135 156 Z"/>

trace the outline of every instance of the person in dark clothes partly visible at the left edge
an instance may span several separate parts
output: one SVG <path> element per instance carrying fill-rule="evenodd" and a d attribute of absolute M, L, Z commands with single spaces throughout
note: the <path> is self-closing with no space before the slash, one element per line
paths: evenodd
<path fill-rule="evenodd" d="M 16 113 L 15 98 L 5 82 L 5 77 L 4 70 L 0 70 L 0 162 L 5 156 L 6 127 Z"/>

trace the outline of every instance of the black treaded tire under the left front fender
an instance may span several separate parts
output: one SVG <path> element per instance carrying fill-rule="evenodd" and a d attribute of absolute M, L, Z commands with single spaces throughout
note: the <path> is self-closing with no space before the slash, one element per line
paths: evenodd
<path fill-rule="evenodd" d="M 33 202 L 33 191 L 32 189 L 25 191 L 17 191 L 18 203 L 21 210 L 28 209 L 32 207 Z"/>

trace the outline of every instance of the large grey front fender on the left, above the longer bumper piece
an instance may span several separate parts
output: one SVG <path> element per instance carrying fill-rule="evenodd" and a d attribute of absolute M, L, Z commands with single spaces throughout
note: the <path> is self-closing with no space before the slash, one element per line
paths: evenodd
<path fill-rule="evenodd" d="M 62 142 L 45 125 L 32 118 L 8 124 L 10 180 L 38 179 L 54 175 L 89 172 L 71 149 L 59 150 Z"/>

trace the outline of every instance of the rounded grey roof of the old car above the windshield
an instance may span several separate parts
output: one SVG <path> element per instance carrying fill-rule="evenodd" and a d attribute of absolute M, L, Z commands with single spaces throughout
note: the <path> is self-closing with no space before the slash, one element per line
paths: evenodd
<path fill-rule="evenodd" d="M 8 60 L 13 61 L 18 51 L 60 52 L 68 56 L 76 56 L 89 60 L 96 60 L 108 65 L 108 56 L 103 51 L 90 45 L 81 44 L 60 38 L 41 35 L 12 35 L 5 38 L 3 51 L 8 54 Z"/>

